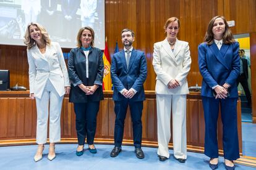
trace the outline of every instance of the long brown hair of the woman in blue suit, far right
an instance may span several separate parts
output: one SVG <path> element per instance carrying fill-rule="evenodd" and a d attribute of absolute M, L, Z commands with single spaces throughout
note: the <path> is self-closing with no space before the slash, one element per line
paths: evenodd
<path fill-rule="evenodd" d="M 205 38 L 203 38 L 203 41 L 207 42 L 208 45 L 213 44 L 213 36 L 214 36 L 213 35 L 213 25 L 214 25 L 216 18 L 223 19 L 224 24 L 225 24 L 225 30 L 223 33 L 223 43 L 224 44 L 232 44 L 233 42 L 235 42 L 233 34 L 231 33 L 231 30 L 229 29 L 226 19 L 223 16 L 219 16 L 219 15 L 213 17 L 210 20 L 210 22 L 208 24 L 208 29 L 207 29 L 207 32 L 205 33 Z"/>

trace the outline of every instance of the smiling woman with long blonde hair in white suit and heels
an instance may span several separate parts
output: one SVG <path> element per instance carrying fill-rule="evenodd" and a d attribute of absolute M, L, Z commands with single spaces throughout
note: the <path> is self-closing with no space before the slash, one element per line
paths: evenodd
<path fill-rule="evenodd" d="M 47 140 L 48 115 L 50 142 L 48 159 L 53 160 L 56 157 L 55 143 L 61 140 L 62 99 L 70 90 L 66 63 L 58 42 L 51 42 L 45 28 L 40 24 L 30 23 L 24 38 L 29 65 L 30 98 L 36 99 L 38 150 L 34 160 L 41 160 L 43 155 Z"/>

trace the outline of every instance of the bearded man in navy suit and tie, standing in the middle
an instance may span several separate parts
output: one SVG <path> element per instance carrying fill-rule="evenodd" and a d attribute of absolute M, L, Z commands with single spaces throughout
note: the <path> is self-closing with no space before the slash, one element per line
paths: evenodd
<path fill-rule="evenodd" d="M 134 31 L 122 30 L 124 50 L 113 55 L 111 63 L 111 78 L 114 87 L 114 111 L 116 121 L 114 126 L 114 148 L 110 156 L 116 157 L 121 152 L 124 135 L 124 119 L 127 107 L 130 107 L 134 146 L 137 158 L 144 158 L 142 144 L 142 109 L 145 93 L 143 83 L 147 78 L 147 60 L 144 52 L 132 47 Z"/>

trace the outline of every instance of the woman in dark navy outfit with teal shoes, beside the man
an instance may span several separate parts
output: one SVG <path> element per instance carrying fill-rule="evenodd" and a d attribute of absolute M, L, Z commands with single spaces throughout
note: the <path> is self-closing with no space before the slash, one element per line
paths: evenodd
<path fill-rule="evenodd" d="M 83 155 L 85 138 L 91 153 L 96 153 L 93 145 L 96 131 L 96 117 L 103 100 L 103 52 L 93 47 L 95 34 L 85 26 L 77 34 L 77 48 L 69 55 L 69 78 L 71 89 L 69 102 L 74 103 L 75 128 L 77 130 L 77 156 Z"/>

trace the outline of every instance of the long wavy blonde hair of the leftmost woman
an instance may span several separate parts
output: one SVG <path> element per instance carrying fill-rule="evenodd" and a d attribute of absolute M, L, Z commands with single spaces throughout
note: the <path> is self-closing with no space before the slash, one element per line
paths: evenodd
<path fill-rule="evenodd" d="M 39 23 L 32 22 L 27 26 L 25 36 L 24 36 L 24 41 L 23 41 L 24 44 L 26 44 L 27 48 L 31 49 L 36 44 L 35 40 L 30 37 L 29 27 L 32 26 L 32 25 L 36 26 L 41 31 L 42 38 L 43 38 L 43 40 L 45 40 L 45 44 L 50 46 L 51 45 L 51 39 L 49 39 L 49 34 L 45 30 L 45 28 L 43 26 L 41 26 Z"/>

